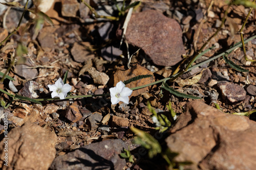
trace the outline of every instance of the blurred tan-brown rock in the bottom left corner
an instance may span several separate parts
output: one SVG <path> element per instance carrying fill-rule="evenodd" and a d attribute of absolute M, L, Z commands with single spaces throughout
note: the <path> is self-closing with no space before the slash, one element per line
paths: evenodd
<path fill-rule="evenodd" d="M 55 133 L 38 125 L 26 123 L 12 129 L 5 138 L 8 139 L 3 139 L 0 144 L 1 169 L 48 169 L 55 157 Z M 4 141 L 8 141 L 7 145 Z M 8 166 L 4 165 L 6 153 Z"/>

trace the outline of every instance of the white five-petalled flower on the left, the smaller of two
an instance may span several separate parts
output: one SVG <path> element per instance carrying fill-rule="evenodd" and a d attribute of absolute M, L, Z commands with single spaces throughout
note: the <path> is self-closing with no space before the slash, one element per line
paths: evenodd
<path fill-rule="evenodd" d="M 62 79 L 59 78 L 55 84 L 48 85 L 49 90 L 52 91 L 52 98 L 59 97 L 59 99 L 65 99 L 67 93 L 71 90 L 72 86 L 64 84 Z"/>

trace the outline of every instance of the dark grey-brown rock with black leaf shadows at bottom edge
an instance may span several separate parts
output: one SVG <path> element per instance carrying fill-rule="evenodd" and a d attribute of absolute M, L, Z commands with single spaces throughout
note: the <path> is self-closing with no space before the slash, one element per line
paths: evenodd
<path fill-rule="evenodd" d="M 56 157 L 50 169 L 123 169 L 126 161 L 119 156 L 123 148 L 127 146 L 120 139 L 91 143 Z"/>

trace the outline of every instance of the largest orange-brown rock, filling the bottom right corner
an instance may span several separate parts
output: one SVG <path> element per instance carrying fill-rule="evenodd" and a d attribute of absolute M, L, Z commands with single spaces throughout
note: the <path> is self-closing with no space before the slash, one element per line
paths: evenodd
<path fill-rule="evenodd" d="M 175 160 L 193 162 L 189 169 L 255 169 L 255 122 L 198 101 L 186 109 L 165 139 Z"/>

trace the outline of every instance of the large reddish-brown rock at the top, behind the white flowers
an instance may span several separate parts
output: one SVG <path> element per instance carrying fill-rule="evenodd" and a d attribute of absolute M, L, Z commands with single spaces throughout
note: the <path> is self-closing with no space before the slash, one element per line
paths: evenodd
<path fill-rule="evenodd" d="M 173 66 L 186 54 L 179 23 L 155 10 L 134 13 L 125 36 L 129 44 L 142 48 L 157 65 Z"/>

